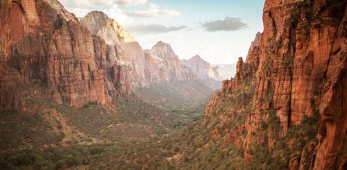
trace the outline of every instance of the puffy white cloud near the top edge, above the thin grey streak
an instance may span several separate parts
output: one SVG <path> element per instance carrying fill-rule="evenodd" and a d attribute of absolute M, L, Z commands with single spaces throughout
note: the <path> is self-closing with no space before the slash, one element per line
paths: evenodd
<path fill-rule="evenodd" d="M 175 10 L 160 10 L 160 6 L 150 4 L 147 10 L 135 10 L 127 12 L 130 16 L 135 17 L 176 17 L 180 15 L 180 12 Z"/>

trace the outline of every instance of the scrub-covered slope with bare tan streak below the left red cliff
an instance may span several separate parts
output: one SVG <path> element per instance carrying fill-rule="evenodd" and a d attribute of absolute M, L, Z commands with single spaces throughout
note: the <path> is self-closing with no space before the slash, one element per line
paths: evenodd
<path fill-rule="evenodd" d="M 114 101 L 113 108 L 95 102 L 74 108 L 46 99 L 48 90 L 35 80 L 24 86 L 28 92 L 20 96 L 26 103 L 24 111 L 0 111 L 1 150 L 158 137 L 200 120 L 205 110 L 204 104 L 164 110 L 135 95 Z"/>

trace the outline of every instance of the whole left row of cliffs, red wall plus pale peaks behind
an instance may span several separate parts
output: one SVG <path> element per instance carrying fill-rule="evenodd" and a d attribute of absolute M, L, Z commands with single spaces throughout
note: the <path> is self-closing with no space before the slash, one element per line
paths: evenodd
<path fill-rule="evenodd" d="M 33 80 L 48 98 L 81 107 L 110 105 L 135 87 L 196 79 L 171 47 L 157 45 L 154 49 L 169 53 L 151 52 L 165 58 L 145 53 L 103 12 L 78 19 L 56 0 L 6 0 L 0 8 L 1 108 L 25 110 L 22 96 L 30 94 L 25 87 Z"/>

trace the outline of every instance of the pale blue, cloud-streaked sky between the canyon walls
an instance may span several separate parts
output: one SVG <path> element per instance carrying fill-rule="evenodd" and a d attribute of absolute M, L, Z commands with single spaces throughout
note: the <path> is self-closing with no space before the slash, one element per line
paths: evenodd
<path fill-rule="evenodd" d="M 167 42 L 180 59 L 198 54 L 211 64 L 246 59 L 262 32 L 265 0 L 60 0 L 76 17 L 105 12 L 131 33 L 143 49 Z"/>

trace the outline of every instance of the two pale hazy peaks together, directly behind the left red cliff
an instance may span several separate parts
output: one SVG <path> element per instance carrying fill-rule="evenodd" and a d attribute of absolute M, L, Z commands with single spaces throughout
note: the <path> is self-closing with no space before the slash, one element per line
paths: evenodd
<path fill-rule="evenodd" d="M 81 24 L 103 37 L 106 57 L 126 68 L 126 82 L 132 87 L 196 78 L 192 70 L 181 64 L 169 44 L 158 42 L 146 53 L 130 33 L 103 12 L 88 13 L 81 18 Z"/>

